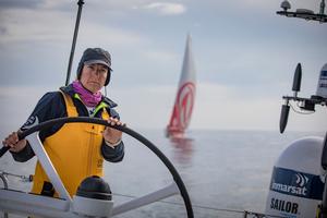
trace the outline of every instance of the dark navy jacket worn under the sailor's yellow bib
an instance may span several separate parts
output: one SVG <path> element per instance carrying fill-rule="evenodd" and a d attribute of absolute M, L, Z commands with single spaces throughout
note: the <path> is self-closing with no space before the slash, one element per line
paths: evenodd
<path fill-rule="evenodd" d="M 73 104 L 76 107 L 78 117 L 89 117 L 89 112 L 88 112 L 87 108 L 85 107 L 85 105 L 78 98 L 74 97 L 75 93 L 73 90 L 72 85 L 61 87 L 60 89 L 63 93 L 65 93 L 72 97 Z M 102 96 L 101 101 L 108 106 L 108 107 L 106 107 L 106 110 L 109 112 L 110 117 L 120 119 L 119 113 L 113 109 L 117 106 L 116 102 L 113 102 L 112 100 L 110 100 L 109 98 L 107 98 L 105 96 Z M 101 118 L 101 112 L 102 112 L 102 110 L 99 110 L 95 114 L 93 114 L 93 117 Z M 64 102 L 62 94 L 59 90 L 47 93 L 40 98 L 40 100 L 38 101 L 38 104 L 36 105 L 35 109 L 34 109 L 34 111 L 32 112 L 32 114 L 29 116 L 27 121 L 23 124 L 21 130 L 24 131 L 32 125 L 45 122 L 47 120 L 51 120 L 51 119 L 56 119 L 56 118 L 63 118 L 63 117 L 68 117 L 68 113 L 66 113 L 65 102 Z M 44 142 L 46 140 L 46 137 L 49 137 L 52 134 L 55 134 L 56 132 L 58 132 L 62 128 L 62 125 L 63 124 L 56 124 L 49 129 L 41 130 L 39 132 L 40 141 Z M 24 147 L 24 149 L 22 149 L 21 152 L 19 152 L 19 153 L 11 152 L 11 154 L 12 154 L 14 160 L 20 161 L 20 162 L 27 161 L 35 156 L 35 154 L 28 143 Z M 112 148 L 112 147 L 108 146 L 105 143 L 105 141 L 102 141 L 101 155 L 104 156 L 104 158 L 107 161 L 110 161 L 110 162 L 121 161 L 124 156 L 123 142 L 121 142 L 118 146 Z"/>

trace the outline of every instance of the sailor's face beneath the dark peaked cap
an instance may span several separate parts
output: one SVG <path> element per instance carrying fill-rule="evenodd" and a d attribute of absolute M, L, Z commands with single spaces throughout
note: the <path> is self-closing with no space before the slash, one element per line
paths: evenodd
<path fill-rule="evenodd" d="M 84 64 L 80 82 L 92 93 L 100 90 L 106 83 L 108 68 L 102 64 Z"/>

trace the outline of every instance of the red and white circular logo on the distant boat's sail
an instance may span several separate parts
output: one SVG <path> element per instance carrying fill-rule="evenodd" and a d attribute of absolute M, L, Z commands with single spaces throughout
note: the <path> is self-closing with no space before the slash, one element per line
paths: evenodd
<path fill-rule="evenodd" d="M 185 83 L 178 93 L 177 96 L 177 114 L 178 117 L 178 125 L 182 129 L 185 129 L 191 120 L 193 104 L 195 98 L 195 85 L 194 83 Z"/>

